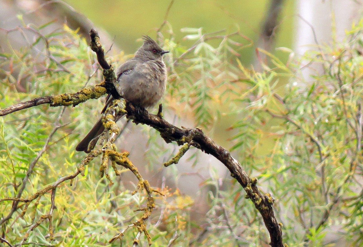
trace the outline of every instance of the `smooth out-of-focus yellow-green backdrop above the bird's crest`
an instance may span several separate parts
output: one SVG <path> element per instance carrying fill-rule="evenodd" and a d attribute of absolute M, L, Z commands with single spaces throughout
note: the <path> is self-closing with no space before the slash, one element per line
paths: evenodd
<path fill-rule="evenodd" d="M 228 33 L 240 32 L 252 39 L 254 43 L 260 37 L 261 25 L 265 18 L 265 12 L 270 3 L 269 0 L 175 0 L 175 1 L 147 1 L 147 0 L 65 0 L 77 11 L 84 13 L 95 25 L 107 30 L 111 36 L 115 36 L 115 42 L 126 53 L 133 53 L 138 44 L 134 41 L 142 34 L 153 34 L 163 23 L 173 27 L 170 35 L 180 41 L 184 33 L 180 31 L 185 27 L 202 28 L 204 33 L 213 33 L 226 30 Z M 170 11 L 167 9 L 172 2 Z M 276 46 L 291 47 L 293 42 L 293 12 L 295 1 L 286 1 L 276 32 Z M 105 14 L 107 18 L 105 18 Z M 237 39 L 237 42 L 243 41 Z M 192 42 L 181 42 L 190 47 Z M 210 42 L 213 46 L 217 42 Z M 238 50 L 242 64 L 252 63 L 254 48 Z M 281 54 L 280 54 L 281 55 Z M 285 57 L 286 58 L 286 57 Z"/>

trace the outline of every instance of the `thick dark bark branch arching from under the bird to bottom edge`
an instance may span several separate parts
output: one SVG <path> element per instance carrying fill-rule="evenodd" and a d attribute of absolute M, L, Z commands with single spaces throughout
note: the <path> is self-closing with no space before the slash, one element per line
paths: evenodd
<path fill-rule="evenodd" d="M 245 189 L 248 198 L 250 198 L 255 205 L 256 209 L 260 212 L 267 230 L 270 234 L 270 245 L 272 247 L 282 247 L 282 231 L 281 226 L 273 212 L 274 198 L 270 194 L 263 194 L 257 188 L 257 179 L 251 179 L 242 168 L 241 164 L 232 157 L 231 153 L 218 146 L 215 141 L 209 138 L 199 128 L 179 128 L 167 122 L 163 118 L 155 114 L 139 113 L 138 109 L 132 104 L 126 104 L 126 117 L 132 119 L 133 122 L 143 123 L 158 130 L 161 137 L 165 142 L 170 143 L 175 141 L 179 146 L 184 143 L 191 143 L 191 145 L 199 148 L 207 154 L 213 155 L 220 162 L 222 162 L 231 172 L 231 176 L 238 181 Z"/>

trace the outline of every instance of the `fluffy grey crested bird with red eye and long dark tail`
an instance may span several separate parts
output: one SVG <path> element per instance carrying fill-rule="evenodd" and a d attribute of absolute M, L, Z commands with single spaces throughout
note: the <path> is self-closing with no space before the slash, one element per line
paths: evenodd
<path fill-rule="evenodd" d="M 116 72 L 118 92 L 132 104 L 141 108 L 154 106 L 164 95 L 167 71 L 163 61 L 164 51 L 152 38 L 143 36 L 144 44 L 136 51 L 134 58 L 127 60 Z M 109 94 L 106 97 L 105 112 L 113 101 Z M 116 121 L 119 118 L 116 118 Z M 89 153 L 97 143 L 105 127 L 101 118 L 76 147 L 77 151 Z"/>

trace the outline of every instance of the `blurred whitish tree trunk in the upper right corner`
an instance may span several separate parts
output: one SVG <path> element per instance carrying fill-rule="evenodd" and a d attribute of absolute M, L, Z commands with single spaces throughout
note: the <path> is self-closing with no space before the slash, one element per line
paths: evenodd
<path fill-rule="evenodd" d="M 297 5 L 297 27 L 294 51 L 303 55 L 309 50 L 332 41 L 342 41 L 345 30 L 361 18 L 363 0 L 299 0 Z M 302 70 L 306 80 L 304 87 L 313 82 L 311 75 L 321 74 L 319 64 L 310 64 Z"/>

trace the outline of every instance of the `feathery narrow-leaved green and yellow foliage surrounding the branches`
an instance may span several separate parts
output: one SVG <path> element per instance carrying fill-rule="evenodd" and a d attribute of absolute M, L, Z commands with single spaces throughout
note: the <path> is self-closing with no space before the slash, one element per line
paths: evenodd
<path fill-rule="evenodd" d="M 12 32 L 29 28 L 24 25 Z M 34 42 L 0 54 L 1 108 L 38 96 L 75 92 L 86 83 L 102 80 L 95 55 L 76 31 L 65 26 L 43 34 L 42 27 L 31 28 L 38 37 Z M 194 42 L 190 47 L 181 46 L 174 36 L 167 37 L 165 33 L 172 33 L 171 29 L 159 34 L 164 48 L 171 51 L 166 56 L 170 69 L 163 100 L 166 110 L 173 107 L 180 116 L 188 113 L 208 135 L 220 131 L 216 119 L 238 116 L 228 129 L 234 137 L 226 148 L 234 151 L 250 176 L 258 177 L 258 186 L 275 198 L 276 216 L 284 225 L 284 242 L 289 246 L 322 245 L 333 226 L 339 227 L 349 244 L 362 246 L 363 21 L 353 26 L 344 42 L 319 47 L 303 60 L 286 64 L 266 53 L 274 67 L 264 65 L 261 73 L 234 63 L 236 50 L 251 45 L 241 33 L 207 34 L 199 28 L 183 32 L 185 39 Z M 289 55 L 288 49 L 281 51 Z M 123 59 L 123 54 L 112 58 Z M 305 82 L 299 74 L 303 61 L 321 64 L 325 73 L 315 75 L 312 85 L 298 88 L 298 83 Z M 281 78 L 290 83 L 279 96 Z M 46 145 L 22 198 L 74 172 L 83 158 L 83 153 L 74 151 L 79 141 L 75 133 L 91 127 L 94 121 L 85 120 L 98 118 L 95 109 L 102 109 L 100 100 L 66 109 L 60 119 L 64 126 Z M 0 199 L 16 196 L 60 112 L 41 105 L 0 118 Z M 154 131 L 150 135 L 148 159 L 150 165 L 159 166 L 160 152 L 172 146 L 158 145 L 161 138 Z M 274 148 L 262 155 L 256 149 L 266 135 L 274 138 Z M 78 176 L 73 186 L 62 183 L 57 188 L 52 219 L 55 240 L 50 241 L 48 221 L 44 221 L 30 232 L 29 246 L 119 245 L 108 241 L 134 221 L 140 213 L 133 210 L 143 207 L 146 197 L 131 195 L 125 188 L 128 181 L 112 172 L 115 184 L 100 179 L 99 163 L 95 159 L 94 166 L 87 166 L 86 176 Z M 213 169 L 209 173 L 201 184 L 212 188 L 203 221 L 191 217 L 194 198 L 178 188 L 161 189 L 166 196 L 156 198 L 160 210 L 148 221 L 153 245 L 268 246 L 264 223 L 251 201 L 244 198 L 244 189 Z M 50 192 L 30 203 L 21 215 L 24 207 L 20 203 L 13 218 L 1 228 L 13 244 L 20 243 L 29 226 L 49 212 Z M 11 201 L 0 202 L 2 216 L 10 208 Z M 124 234 L 126 244 L 136 235 L 133 229 Z M 139 245 L 147 246 L 143 236 Z"/>

